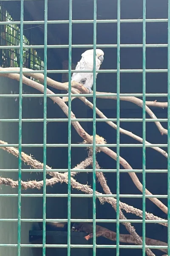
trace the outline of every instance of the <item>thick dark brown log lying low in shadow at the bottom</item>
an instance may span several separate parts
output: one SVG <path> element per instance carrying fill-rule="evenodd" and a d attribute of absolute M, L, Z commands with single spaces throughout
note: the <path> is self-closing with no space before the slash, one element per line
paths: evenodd
<path fill-rule="evenodd" d="M 85 223 L 85 222 L 76 224 L 76 230 L 85 232 L 85 233 L 89 233 L 88 236 L 85 236 L 86 240 L 89 240 L 93 237 L 93 224 Z M 114 231 L 109 230 L 105 227 L 96 225 L 96 237 L 99 237 L 99 236 L 103 236 L 106 239 L 116 241 L 116 233 Z M 142 237 L 140 237 L 140 239 L 142 240 Z M 131 235 L 119 234 L 119 240 L 120 240 L 120 242 L 125 243 L 125 244 L 137 244 L 135 239 Z M 146 244 L 147 245 L 167 246 L 167 243 L 165 243 L 165 242 L 155 240 L 155 239 L 150 239 L 147 237 L 146 237 Z M 162 252 L 167 253 L 167 249 L 159 248 L 157 250 L 161 250 Z"/>

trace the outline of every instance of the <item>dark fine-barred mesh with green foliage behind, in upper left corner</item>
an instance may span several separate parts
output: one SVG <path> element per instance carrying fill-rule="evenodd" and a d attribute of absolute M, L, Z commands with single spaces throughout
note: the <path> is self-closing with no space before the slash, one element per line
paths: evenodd
<path fill-rule="evenodd" d="M 0 3 L 0 66 L 1 67 L 20 67 L 20 48 L 14 46 L 20 45 L 20 26 L 18 26 L 8 10 Z M 4 23 L 3 23 L 4 22 Z M 31 45 L 31 32 L 23 29 L 23 45 Z M 6 46 L 6 48 L 5 48 Z M 23 67 L 34 70 L 43 70 L 43 54 L 37 52 L 34 48 L 23 49 Z M 31 78 L 33 81 L 38 81 Z"/>

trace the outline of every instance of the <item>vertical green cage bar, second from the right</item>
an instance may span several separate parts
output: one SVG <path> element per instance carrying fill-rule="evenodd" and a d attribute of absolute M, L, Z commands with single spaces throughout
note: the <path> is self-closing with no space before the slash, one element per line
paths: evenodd
<path fill-rule="evenodd" d="M 143 91 L 143 108 L 142 108 L 142 138 L 143 138 L 143 145 L 142 145 L 142 184 L 143 184 L 143 191 L 142 191 L 142 255 L 145 256 L 145 237 L 146 237 L 146 225 L 145 225 L 145 189 L 146 189 L 146 146 L 145 146 L 145 140 L 146 140 L 146 0 L 143 0 L 143 73 L 142 73 L 142 91 Z"/>

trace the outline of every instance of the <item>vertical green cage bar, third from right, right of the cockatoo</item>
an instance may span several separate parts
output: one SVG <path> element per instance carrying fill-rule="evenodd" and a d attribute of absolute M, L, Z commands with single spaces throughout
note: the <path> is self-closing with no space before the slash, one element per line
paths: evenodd
<path fill-rule="evenodd" d="M 119 256 L 119 167 L 120 167 L 120 0 L 117 1 L 117 130 L 116 130 L 116 256 Z"/>

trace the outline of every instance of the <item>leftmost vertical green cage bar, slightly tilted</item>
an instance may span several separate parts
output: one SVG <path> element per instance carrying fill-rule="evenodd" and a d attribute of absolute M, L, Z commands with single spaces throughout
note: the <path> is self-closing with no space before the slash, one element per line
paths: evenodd
<path fill-rule="evenodd" d="M 21 178 L 22 178 L 22 105 L 23 105 L 23 20 L 24 20 L 24 0 L 21 0 L 20 13 L 20 91 L 19 91 L 19 141 L 18 141 L 18 237 L 17 256 L 21 255 Z"/>

